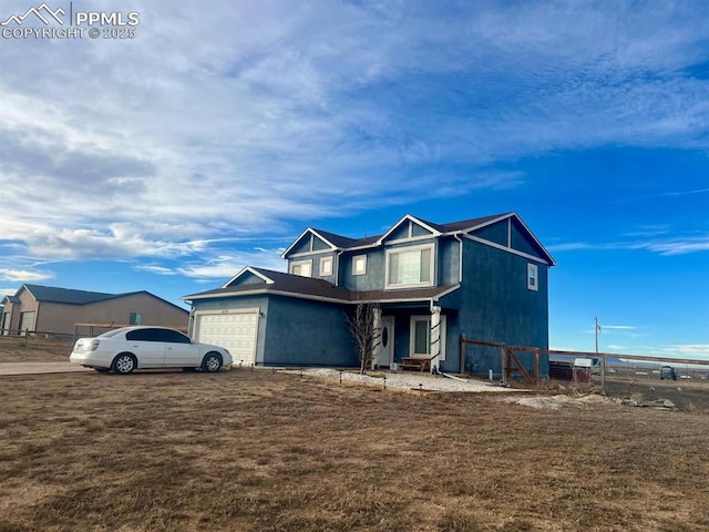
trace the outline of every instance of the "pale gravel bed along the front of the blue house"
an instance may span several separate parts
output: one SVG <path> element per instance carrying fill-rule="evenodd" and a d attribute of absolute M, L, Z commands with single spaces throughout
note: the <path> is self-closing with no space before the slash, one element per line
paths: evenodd
<path fill-rule="evenodd" d="M 450 378 L 444 376 L 434 376 L 431 374 L 403 372 L 403 371 L 378 371 L 376 375 L 360 375 L 350 370 L 340 371 L 329 368 L 304 368 L 302 370 L 288 370 L 290 372 L 302 372 L 308 377 L 322 377 L 327 379 L 340 379 L 354 382 L 362 382 L 371 386 L 386 386 L 387 388 L 395 388 L 402 390 L 423 391 L 521 391 L 512 388 L 505 388 L 497 382 L 486 382 L 483 380 L 472 380 L 463 378 Z"/>

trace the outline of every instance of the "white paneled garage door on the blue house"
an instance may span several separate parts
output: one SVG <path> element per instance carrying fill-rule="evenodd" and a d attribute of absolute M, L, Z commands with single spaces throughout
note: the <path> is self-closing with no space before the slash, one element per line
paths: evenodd
<path fill-rule="evenodd" d="M 196 313 L 195 338 L 204 344 L 226 347 L 234 357 L 235 366 L 255 364 L 258 309 Z"/>

